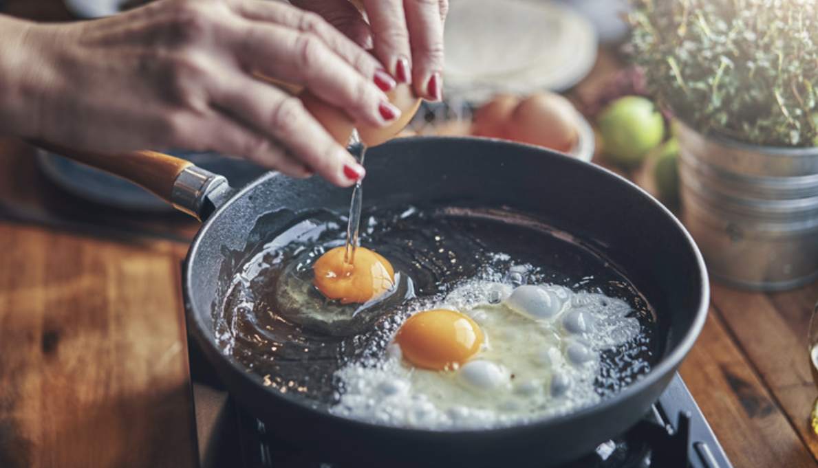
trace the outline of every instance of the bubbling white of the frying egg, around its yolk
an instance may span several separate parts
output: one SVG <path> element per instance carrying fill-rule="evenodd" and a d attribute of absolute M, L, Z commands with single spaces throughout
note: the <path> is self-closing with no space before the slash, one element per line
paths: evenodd
<path fill-rule="evenodd" d="M 448 371 L 414 368 L 391 345 L 380 360 L 350 363 L 330 411 L 391 426 L 471 429 L 509 426 L 600 401 L 601 354 L 640 336 L 625 301 L 551 284 L 514 287 L 473 280 L 425 308 L 459 310 L 485 343 Z M 648 365 L 639 363 L 639 365 Z"/>

